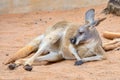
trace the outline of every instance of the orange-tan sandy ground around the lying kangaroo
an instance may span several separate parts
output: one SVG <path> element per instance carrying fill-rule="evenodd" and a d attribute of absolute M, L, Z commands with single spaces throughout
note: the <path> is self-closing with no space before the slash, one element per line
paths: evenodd
<path fill-rule="evenodd" d="M 107 60 L 87 62 L 74 66 L 75 60 L 65 60 L 49 65 L 34 66 L 31 72 L 19 67 L 13 71 L 3 62 L 33 38 L 44 33 L 45 29 L 58 21 L 66 20 L 82 25 L 84 13 L 96 9 L 96 18 L 105 5 L 68 11 L 31 12 L 27 14 L 0 15 L 0 80 L 120 80 L 120 52 L 106 52 Z M 120 31 L 120 17 L 107 15 L 97 29 L 102 32 Z M 108 40 L 102 37 L 103 42 Z"/>

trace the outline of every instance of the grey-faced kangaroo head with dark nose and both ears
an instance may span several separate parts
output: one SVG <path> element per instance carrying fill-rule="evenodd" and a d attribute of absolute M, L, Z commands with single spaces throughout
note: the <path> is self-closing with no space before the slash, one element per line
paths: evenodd
<path fill-rule="evenodd" d="M 100 39 L 95 26 L 98 25 L 99 22 L 104 20 L 105 18 L 101 20 L 94 20 L 94 15 L 94 9 L 90 9 L 85 13 L 85 24 L 80 26 L 74 37 L 70 39 L 70 42 L 72 44 L 78 45 L 86 43 L 90 40 Z"/>

